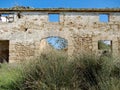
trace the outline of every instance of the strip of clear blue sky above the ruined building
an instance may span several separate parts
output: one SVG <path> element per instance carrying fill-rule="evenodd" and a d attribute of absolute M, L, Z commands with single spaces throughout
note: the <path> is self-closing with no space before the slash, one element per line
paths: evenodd
<path fill-rule="evenodd" d="M 120 8 L 120 0 L 1 0 L 0 8 L 15 5 L 34 8 Z"/>

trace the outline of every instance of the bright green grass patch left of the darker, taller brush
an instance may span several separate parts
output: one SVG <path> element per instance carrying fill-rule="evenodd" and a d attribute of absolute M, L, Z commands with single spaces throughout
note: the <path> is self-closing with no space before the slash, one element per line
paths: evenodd
<path fill-rule="evenodd" d="M 22 67 L 8 64 L 0 66 L 0 90 L 17 90 L 18 84 L 16 82 L 21 82 Z"/>

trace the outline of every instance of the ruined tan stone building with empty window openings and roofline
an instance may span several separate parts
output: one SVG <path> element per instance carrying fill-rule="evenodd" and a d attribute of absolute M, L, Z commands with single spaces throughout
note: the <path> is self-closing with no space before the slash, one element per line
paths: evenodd
<path fill-rule="evenodd" d="M 99 41 L 119 55 L 120 9 L 0 9 L 0 56 L 7 62 L 38 56 L 41 40 L 51 36 L 68 41 L 70 56 L 101 53 Z"/>

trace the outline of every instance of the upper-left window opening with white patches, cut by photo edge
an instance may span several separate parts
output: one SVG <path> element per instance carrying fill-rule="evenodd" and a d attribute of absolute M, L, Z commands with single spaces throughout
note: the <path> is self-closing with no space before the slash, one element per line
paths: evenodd
<path fill-rule="evenodd" d="M 13 13 L 1 13 L 0 14 L 0 22 L 13 22 L 14 14 Z"/>

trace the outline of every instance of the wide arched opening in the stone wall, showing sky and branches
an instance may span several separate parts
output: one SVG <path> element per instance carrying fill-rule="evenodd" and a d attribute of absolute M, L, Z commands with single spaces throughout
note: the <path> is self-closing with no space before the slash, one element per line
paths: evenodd
<path fill-rule="evenodd" d="M 50 54 L 50 53 L 57 53 L 62 54 L 64 53 L 65 56 L 67 55 L 68 51 L 68 41 L 64 38 L 52 36 L 42 39 L 39 46 L 39 52 Z"/>

